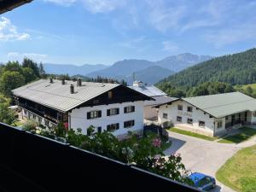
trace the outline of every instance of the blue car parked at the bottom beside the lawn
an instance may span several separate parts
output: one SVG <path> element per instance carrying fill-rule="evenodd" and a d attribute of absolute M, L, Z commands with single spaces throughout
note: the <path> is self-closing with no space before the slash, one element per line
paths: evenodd
<path fill-rule="evenodd" d="M 200 172 L 192 173 L 189 175 L 189 178 L 193 181 L 197 189 L 209 190 L 216 186 L 215 178 Z"/>

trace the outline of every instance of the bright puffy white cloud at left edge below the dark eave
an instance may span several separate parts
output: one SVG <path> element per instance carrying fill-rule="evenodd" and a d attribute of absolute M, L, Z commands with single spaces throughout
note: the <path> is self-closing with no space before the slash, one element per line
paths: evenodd
<path fill-rule="evenodd" d="M 0 41 L 23 41 L 28 38 L 30 38 L 30 35 L 25 32 L 18 32 L 11 20 L 6 17 L 0 18 Z"/>

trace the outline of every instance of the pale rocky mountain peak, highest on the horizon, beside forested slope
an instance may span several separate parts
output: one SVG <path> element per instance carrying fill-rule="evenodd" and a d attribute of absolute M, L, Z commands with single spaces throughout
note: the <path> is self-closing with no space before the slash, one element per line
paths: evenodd
<path fill-rule="evenodd" d="M 171 69 L 174 72 L 179 72 L 187 67 L 191 67 L 197 63 L 210 59 L 212 59 L 212 56 L 184 53 L 180 55 L 168 56 L 163 60 L 156 61 L 155 64 L 160 67 Z"/>

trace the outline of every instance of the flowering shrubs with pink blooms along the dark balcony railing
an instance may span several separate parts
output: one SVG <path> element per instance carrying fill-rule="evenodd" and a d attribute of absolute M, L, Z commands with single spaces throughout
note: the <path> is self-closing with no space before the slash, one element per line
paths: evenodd
<path fill-rule="evenodd" d="M 60 124 L 54 129 L 49 129 L 34 122 L 29 122 L 24 128 L 44 137 L 54 138 L 63 143 L 89 150 L 96 154 L 102 154 L 114 160 L 140 167 L 149 172 L 154 172 L 164 177 L 172 178 L 178 182 L 192 184 L 187 177 L 189 172 L 181 162 L 180 154 L 164 156 L 160 137 L 151 132 L 145 132 L 144 137 L 138 138 L 129 133 L 130 138 L 119 141 L 112 133 L 103 131 L 94 132 L 90 126 L 90 134 L 85 136 L 81 129 L 67 130 L 65 125 Z"/>

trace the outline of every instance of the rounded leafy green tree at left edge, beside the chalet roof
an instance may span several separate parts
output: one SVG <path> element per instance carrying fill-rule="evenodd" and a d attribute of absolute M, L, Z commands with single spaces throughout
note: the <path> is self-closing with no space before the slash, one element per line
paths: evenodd
<path fill-rule="evenodd" d="M 11 90 L 25 84 L 25 78 L 19 72 L 6 71 L 0 78 L 0 89 L 4 96 L 11 96 Z"/>

